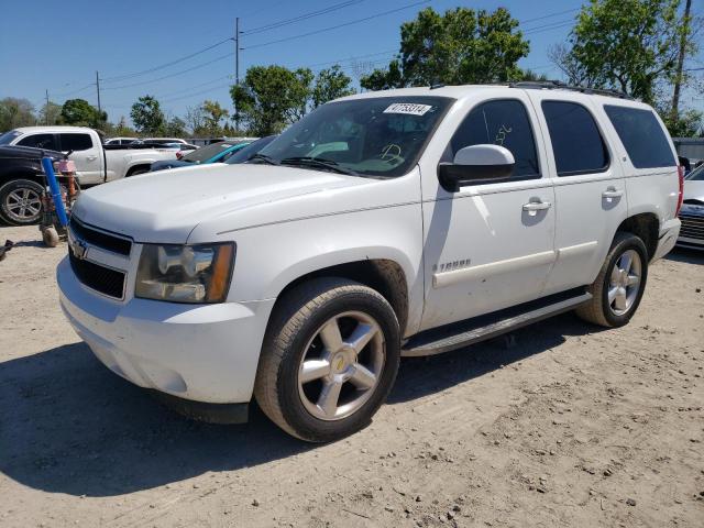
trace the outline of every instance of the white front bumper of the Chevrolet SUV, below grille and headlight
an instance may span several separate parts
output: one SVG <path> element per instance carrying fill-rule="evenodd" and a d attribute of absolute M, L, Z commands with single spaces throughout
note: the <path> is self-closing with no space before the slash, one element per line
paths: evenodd
<path fill-rule="evenodd" d="M 113 300 L 78 282 L 68 257 L 56 278 L 68 321 L 116 374 L 186 400 L 250 402 L 273 299 L 218 305 Z"/>

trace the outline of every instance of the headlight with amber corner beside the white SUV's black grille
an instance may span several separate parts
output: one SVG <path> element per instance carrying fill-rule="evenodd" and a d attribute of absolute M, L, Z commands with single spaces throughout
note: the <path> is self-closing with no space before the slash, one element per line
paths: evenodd
<path fill-rule="evenodd" d="M 172 302 L 222 302 L 233 262 L 233 243 L 144 244 L 134 296 Z"/>

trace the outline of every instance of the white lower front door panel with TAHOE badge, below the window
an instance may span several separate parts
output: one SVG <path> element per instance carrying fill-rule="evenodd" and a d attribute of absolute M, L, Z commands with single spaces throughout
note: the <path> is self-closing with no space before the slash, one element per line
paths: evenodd
<path fill-rule="evenodd" d="M 554 208 L 524 205 L 553 204 L 554 195 L 549 182 L 526 184 L 425 205 L 424 329 L 540 296 L 554 262 Z"/>

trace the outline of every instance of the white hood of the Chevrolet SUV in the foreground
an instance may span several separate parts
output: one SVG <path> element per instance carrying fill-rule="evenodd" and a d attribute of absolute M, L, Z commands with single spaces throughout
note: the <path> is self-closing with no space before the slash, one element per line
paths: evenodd
<path fill-rule="evenodd" d="M 286 220 L 290 215 L 312 212 L 310 207 L 320 207 L 321 200 L 299 200 L 293 208 L 266 206 L 374 184 L 380 182 L 306 168 L 204 165 L 146 173 L 94 187 L 81 193 L 73 213 L 85 223 L 138 242 L 180 244 L 204 221 L 243 229 L 261 222 L 261 215 L 251 211 L 262 207 L 266 208 L 268 222 Z M 219 222 L 223 217 L 227 219 Z"/>

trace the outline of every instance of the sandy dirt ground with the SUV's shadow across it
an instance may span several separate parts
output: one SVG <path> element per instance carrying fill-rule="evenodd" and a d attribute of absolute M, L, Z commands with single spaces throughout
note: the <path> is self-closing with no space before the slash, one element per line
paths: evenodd
<path fill-rule="evenodd" d="M 2 527 L 704 526 L 704 254 L 653 265 L 623 329 L 565 315 L 405 360 L 369 428 L 309 446 L 108 372 L 57 305 L 65 246 L 4 239 Z"/>

